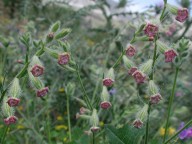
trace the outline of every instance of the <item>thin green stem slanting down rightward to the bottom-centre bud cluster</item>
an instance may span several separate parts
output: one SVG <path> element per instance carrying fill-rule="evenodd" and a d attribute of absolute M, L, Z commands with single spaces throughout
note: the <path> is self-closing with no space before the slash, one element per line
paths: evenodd
<path fill-rule="evenodd" d="M 87 96 L 87 93 L 86 93 L 86 91 L 85 91 L 85 87 L 84 87 L 83 82 L 82 82 L 82 80 L 81 80 L 81 76 L 80 76 L 80 74 L 79 74 L 79 70 L 78 70 L 78 69 L 76 70 L 76 73 L 77 73 L 77 77 L 78 77 L 79 83 L 80 83 L 81 88 L 82 88 L 83 93 L 84 93 L 83 99 L 84 99 L 84 101 L 86 102 L 87 107 L 88 107 L 89 109 L 93 110 L 93 107 L 92 107 L 91 102 L 90 102 L 90 100 L 89 100 L 89 97 Z"/>

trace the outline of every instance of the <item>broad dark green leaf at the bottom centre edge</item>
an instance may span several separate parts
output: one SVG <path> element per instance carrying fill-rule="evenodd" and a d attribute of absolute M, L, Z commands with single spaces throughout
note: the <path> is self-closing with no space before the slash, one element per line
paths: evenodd
<path fill-rule="evenodd" d="M 136 129 L 129 125 L 125 125 L 120 129 L 105 125 L 105 132 L 109 139 L 109 144 L 139 144 L 144 135 L 143 128 Z"/>

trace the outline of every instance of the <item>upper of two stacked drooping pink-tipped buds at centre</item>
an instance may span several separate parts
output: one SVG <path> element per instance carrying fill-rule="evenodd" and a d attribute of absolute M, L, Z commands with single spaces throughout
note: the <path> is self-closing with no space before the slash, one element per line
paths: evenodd
<path fill-rule="evenodd" d="M 110 68 L 109 71 L 107 72 L 106 78 L 103 79 L 103 85 L 106 87 L 111 87 L 114 83 L 114 69 Z"/>

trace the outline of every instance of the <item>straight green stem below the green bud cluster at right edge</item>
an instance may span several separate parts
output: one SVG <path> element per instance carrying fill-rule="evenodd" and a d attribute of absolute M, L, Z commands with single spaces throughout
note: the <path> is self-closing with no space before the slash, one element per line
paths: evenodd
<path fill-rule="evenodd" d="M 170 114 L 171 114 L 171 107 L 173 104 L 173 99 L 174 99 L 174 94 L 175 94 L 175 87 L 176 87 L 176 82 L 177 82 L 177 76 L 178 76 L 179 68 L 176 68 L 176 73 L 175 73 L 175 78 L 174 78 L 174 83 L 173 83 L 173 88 L 171 92 L 171 96 L 169 98 L 169 105 L 168 105 L 168 116 L 167 116 L 167 121 L 166 121 L 166 126 L 165 126 L 165 135 L 163 137 L 163 142 L 165 142 L 166 135 L 167 135 L 167 130 L 169 126 L 169 119 L 170 119 Z"/>

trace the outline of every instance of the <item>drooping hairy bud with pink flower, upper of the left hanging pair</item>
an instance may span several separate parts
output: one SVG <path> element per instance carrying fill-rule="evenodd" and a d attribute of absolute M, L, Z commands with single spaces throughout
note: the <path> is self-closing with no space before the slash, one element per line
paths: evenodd
<path fill-rule="evenodd" d="M 43 64 L 37 56 L 33 56 L 30 67 L 30 71 L 34 77 L 38 77 L 44 73 Z"/>

